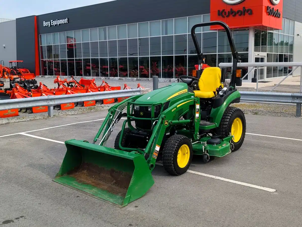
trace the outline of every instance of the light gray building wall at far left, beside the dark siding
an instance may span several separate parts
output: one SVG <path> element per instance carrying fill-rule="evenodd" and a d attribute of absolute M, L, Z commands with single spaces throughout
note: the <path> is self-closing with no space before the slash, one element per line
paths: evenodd
<path fill-rule="evenodd" d="M 0 31 L 5 31 L 0 35 L 0 60 L 5 66 L 9 66 L 8 61 L 16 60 L 16 20 L 0 23 Z M 3 47 L 5 45 L 5 48 Z"/>

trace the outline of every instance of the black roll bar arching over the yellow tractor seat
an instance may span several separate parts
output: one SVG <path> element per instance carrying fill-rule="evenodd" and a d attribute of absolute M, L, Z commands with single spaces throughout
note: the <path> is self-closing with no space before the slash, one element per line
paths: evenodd
<path fill-rule="evenodd" d="M 210 22 L 205 22 L 205 23 L 201 23 L 201 24 L 195 24 L 191 29 L 191 36 L 193 39 L 193 43 L 194 43 L 194 46 L 195 46 L 195 49 L 197 52 L 197 56 L 198 56 L 198 61 L 199 61 L 198 78 L 200 78 L 200 76 L 201 76 L 201 65 L 203 64 L 204 54 L 200 50 L 200 47 L 199 47 L 199 44 L 198 44 L 198 41 L 196 38 L 196 34 L 195 34 L 195 29 L 198 27 L 206 27 L 206 26 L 212 26 L 212 25 L 219 25 L 219 26 L 223 27 L 224 30 L 226 31 L 226 35 L 229 40 L 230 48 L 231 48 L 231 52 L 232 52 L 232 56 L 233 56 L 233 70 L 232 70 L 230 86 L 235 87 L 237 63 L 240 62 L 241 60 L 240 60 L 240 56 L 239 56 L 238 52 L 236 51 L 230 27 L 222 21 L 210 21 Z"/>

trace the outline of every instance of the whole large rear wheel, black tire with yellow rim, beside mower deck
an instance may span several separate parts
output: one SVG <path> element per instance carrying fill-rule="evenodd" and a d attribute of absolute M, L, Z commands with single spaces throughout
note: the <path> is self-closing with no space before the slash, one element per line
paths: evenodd
<path fill-rule="evenodd" d="M 243 111 L 233 106 L 226 108 L 216 133 L 220 138 L 228 137 L 232 133 L 235 136 L 232 139 L 234 144 L 232 151 L 238 150 L 242 146 L 246 134 L 246 119 Z"/>

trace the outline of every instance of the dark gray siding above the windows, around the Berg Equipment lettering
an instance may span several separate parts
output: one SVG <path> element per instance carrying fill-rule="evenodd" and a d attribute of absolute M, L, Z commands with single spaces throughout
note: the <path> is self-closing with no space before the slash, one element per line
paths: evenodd
<path fill-rule="evenodd" d="M 39 34 L 209 14 L 210 0 L 117 0 L 38 16 Z M 69 18 L 44 27 L 43 21 Z"/>

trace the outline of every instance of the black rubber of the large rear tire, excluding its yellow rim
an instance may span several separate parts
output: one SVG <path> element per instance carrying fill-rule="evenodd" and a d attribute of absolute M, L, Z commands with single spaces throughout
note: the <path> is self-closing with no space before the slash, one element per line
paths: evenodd
<path fill-rule="evenodd" d="M 236 151 L 238 150 L 245 138 L 245 134 L 246 134 L 246 119 L 244 116 L 244 113 L 241 109 L 234 107 L 234 106 L 229 106 L 226 108 L 225 112 L 223 113 L 223 116 L 221 118 L 220 121 L 220 125 L 217 128 L 216 134 L 219 135 L 220 138 L 225 138 L 228 137 L 230 132 L 231 132 L 231 128 L 232 128 L 232 124 L 233 121 L 235 120 L 235 118 L 241 118 L 242 124 L 243 124 L 243 131 L 242 131 L 242 136 L 240 138 L 240 140 L 235 143 L 234 141 L 232 141 L 232 143 L 234 144 L 234 150 Z"/>

